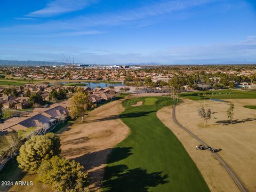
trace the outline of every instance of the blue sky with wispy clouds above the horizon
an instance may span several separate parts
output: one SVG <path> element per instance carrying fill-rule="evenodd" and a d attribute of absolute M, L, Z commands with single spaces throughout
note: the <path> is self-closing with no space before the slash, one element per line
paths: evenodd
<path fill-rule="evenodd" d="M 0 1 L 0 59 L 256 63 L 253 0 Z"/>

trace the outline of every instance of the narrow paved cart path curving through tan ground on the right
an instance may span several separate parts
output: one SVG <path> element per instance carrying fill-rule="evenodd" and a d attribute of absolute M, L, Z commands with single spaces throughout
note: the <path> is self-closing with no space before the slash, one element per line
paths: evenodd
<path fill-rule="evenodd" d="M 201 140 L 200 138 L 198 138 L 193 132 L 189 131 L 186 127 L 182 126 L 176 119 L 175 116 L 175 105 L 172 108 L 172 118 L 173 121 L 184 131 L 186 131 L 191 137 L 195 138 L 198 142 L 200 142 L 202 145 L 204 146 L 209 146 L 207 145 L 203 140 Z M 217 160 L 220 162 L 220 164 L 226 169 L 226 171 L 228 172 L 228 174 L 230 175 L 230 177 L 235 181 L 237 187 L 242 191 L 242 192 L 249 192 L 249 190 L 247 190 L 243 184 L 243 182 L 237 177 L 237 175 L 234 173 L 233 170 L 231 170 L 231 168 L 227 165 L 227 163 L 219 156 L 219 154 L 217 153 L 212 153 L 214 155 L 215 158 L 217 158 Z"/>

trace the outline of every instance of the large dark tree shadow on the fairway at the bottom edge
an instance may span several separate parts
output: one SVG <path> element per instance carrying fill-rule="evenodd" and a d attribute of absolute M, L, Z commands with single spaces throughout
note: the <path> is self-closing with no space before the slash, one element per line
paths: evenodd
<path fill-rule="evenodd" d="M 168 175 L 162 175 L 162 172 L 148 173 L 146 169 L 129 169 L 127 165 L 115 165 L 106 167 L 102 186 L 106 191 L 146 192 L 149 187 L 169 182 L 167 178 Z"/>

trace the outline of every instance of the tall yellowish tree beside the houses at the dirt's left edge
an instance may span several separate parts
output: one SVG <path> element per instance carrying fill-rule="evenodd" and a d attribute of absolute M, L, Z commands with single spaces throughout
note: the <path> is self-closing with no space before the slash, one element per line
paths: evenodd
<path fill-rule="evenodd" d="M 89 93 L 78 91 L 70 99 L 71 107 L 69 108 L 69 115 L 72 118 L 81 117 L 82 122 L 84 116 L 87 115 L 87 110 L 94 108 L 95 106 L 89 100 Z"/>

